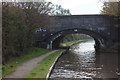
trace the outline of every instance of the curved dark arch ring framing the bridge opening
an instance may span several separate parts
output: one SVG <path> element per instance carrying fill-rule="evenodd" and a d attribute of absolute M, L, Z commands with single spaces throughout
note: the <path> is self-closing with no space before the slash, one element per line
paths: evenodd
<path fill-rule="evenodd" d="M 97 47 L 104 47 L 104 38 L 100 34 L 90 31 L 90 30 L 83 30 L 83 29 L 67 29 L 63 31 L 58 31 L 56 33 L 53 33 L 51 36 L 49 36 L 46 40 L 49 42 L 48 48 L 55 47 L 57 48 L 59 45 L 60 40 L 68 35 L 68 34 L 74 34 L 74 33 L 82 33 L 91 36 L 95 40 L 95 44 Z"/>

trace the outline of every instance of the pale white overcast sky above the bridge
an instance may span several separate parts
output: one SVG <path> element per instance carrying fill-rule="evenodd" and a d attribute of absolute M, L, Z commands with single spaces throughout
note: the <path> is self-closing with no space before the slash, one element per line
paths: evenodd
<path fill-rule="evenodd" d="M 72 15 L 100 14 L 103 3 L 100 0 L 46 0 L 69 9 Z"/>

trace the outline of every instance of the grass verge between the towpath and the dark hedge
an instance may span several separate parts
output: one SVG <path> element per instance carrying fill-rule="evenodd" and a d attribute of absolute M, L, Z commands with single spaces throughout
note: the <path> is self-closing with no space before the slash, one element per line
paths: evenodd
<path fill-rule="evenodd" d="M 7 62 L 7 64 L 2 66 L 2 69 L 3 69 L 2 76 L 4 77 L 4 76 L 14 72 L 16 67 L 20 66 L 23 62 L 26 62 L 32 58 L 41 56 L 49 51 L 51 51 L 51 50 L 35 48 L 35 50 L 33 52 L 29 52 L 21 57 L 18 57 L 14 60 Z"/>

